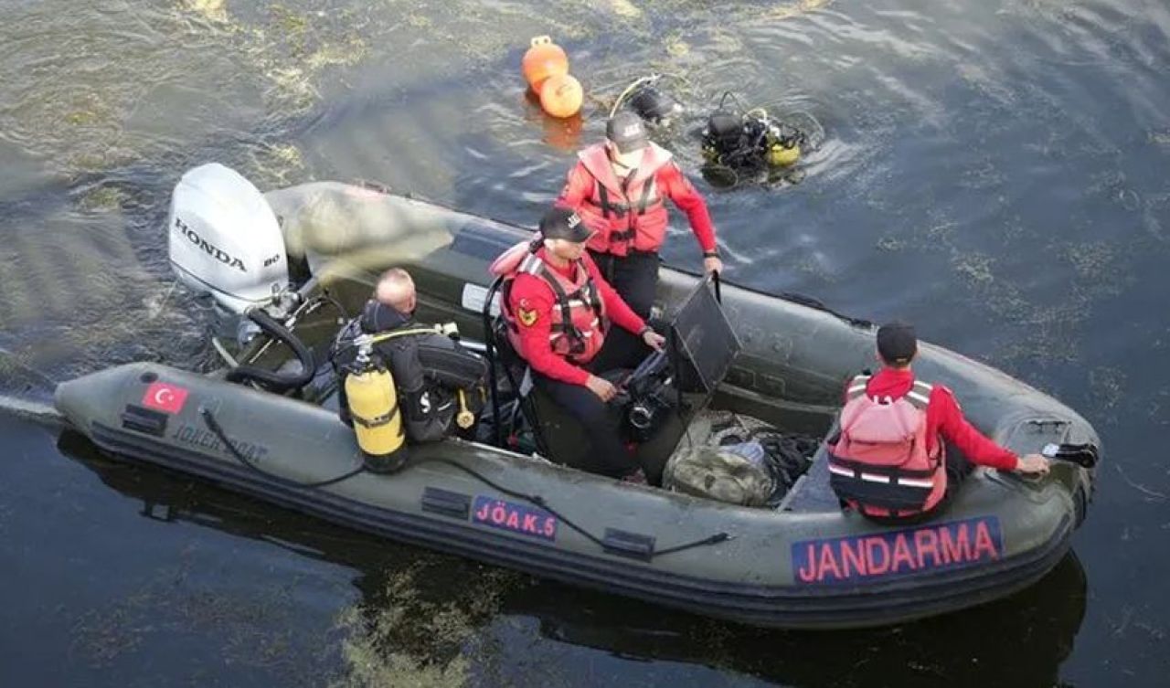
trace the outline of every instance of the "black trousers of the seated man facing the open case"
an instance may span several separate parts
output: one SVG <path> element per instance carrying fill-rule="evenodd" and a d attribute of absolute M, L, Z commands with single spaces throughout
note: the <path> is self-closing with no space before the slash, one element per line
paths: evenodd
<path fill-rule="evenodd" d="M 613 332 L 605 338 L 605 344 L 597 357 L 586 367 L 590 372 L 604 374 L 619 369 L 638 367 L 649 348 L 631 337 L 636 345 L 617 339 Z M 611 405 L 601 401 L 585 385 L 573 385 L 548 378 L 532 371 L 532 383 L 538 385 L 552 400 L 573 415 L 589 435 L 590 452 L 580 465 L 573 466 L 589 473 L 622 477 L 639 468 L 634 455 L 626 448 L 621 439 L 621 418 Z"/>

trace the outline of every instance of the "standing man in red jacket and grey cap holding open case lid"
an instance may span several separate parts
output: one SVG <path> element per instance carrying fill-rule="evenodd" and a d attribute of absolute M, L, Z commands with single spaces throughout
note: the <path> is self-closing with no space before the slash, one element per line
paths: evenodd
<path fill-rule="evenodd" d="M 622 110 L 605 128 L 606 140 L 580 151 L 557 204 L 577 211 L 593 231 L 589 250 L 629 308 L 649 317 L 658 287 L 658 252 L 666 240 L 666 199 L 690 221 L 703 252 L 703 270 L 722 271 L 707 201 L 665 149 L 646 136 L 641 118 Z"/>

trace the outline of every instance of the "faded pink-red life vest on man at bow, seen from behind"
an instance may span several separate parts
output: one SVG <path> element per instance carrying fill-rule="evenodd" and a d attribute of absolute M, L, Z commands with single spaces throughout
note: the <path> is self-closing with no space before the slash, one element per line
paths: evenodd
<path fill-rule="evenodd" d="M 869 376 L 849 383 L 840 431 L 828 443 L 830 484 L 869 516 L 929 511 L 947 491 L 943 443 L 927 452 L 927 406 L 932 387 L 915 380 L 904 397 L 872 398 Z"/>

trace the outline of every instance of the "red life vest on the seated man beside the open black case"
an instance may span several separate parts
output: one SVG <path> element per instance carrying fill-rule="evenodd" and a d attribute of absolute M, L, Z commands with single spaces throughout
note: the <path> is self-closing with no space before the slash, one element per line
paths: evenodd
<path fill-rule="evenodd" d="M 534 253 L 531 246 L 530 242 L 525 241 L 511 247 L 497 257 L 490 268 L 493 274 L 503 275 L 507 280 L 501 290 L 502 308 L 500 312 L 508 324 L 508 340 L 516 353 L 528 358 L 519 337 L 519 324 L 516 321 L 516 314 L 511 312 L 508 296 L 511 280 L 516 275 L 521 273 L 536 275 L 549 284 L 556 298 L 550 314 L 549 345 L 558 356 L 564 356 L 576 364 L 586 364 L 601 350 L 601 344 L 605 343 L 605 332 L 608 329 L 605 302 L 590 276 L 585 264 L 587 259 L 574 262 L 574 278 L 570 280 L 544 262 L 545 249 L 543 247 Z"/>

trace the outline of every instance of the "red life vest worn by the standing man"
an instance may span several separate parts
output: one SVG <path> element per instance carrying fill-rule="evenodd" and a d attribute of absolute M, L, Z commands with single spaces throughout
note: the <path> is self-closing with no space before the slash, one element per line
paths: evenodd
<path fill-rule="evenodd" d="M 670 152 L 649 144 L 642 161 L 627 179 L 614 174 L 604 143 L 580 151 L 577 157 L 594 184 L 591 197 L 577 208 L 585 225 L 596 232 L 589 247 L 613 255 L 661 248 L 668 216 L 656 178 L 659 170 L 670 163 Z"/>

